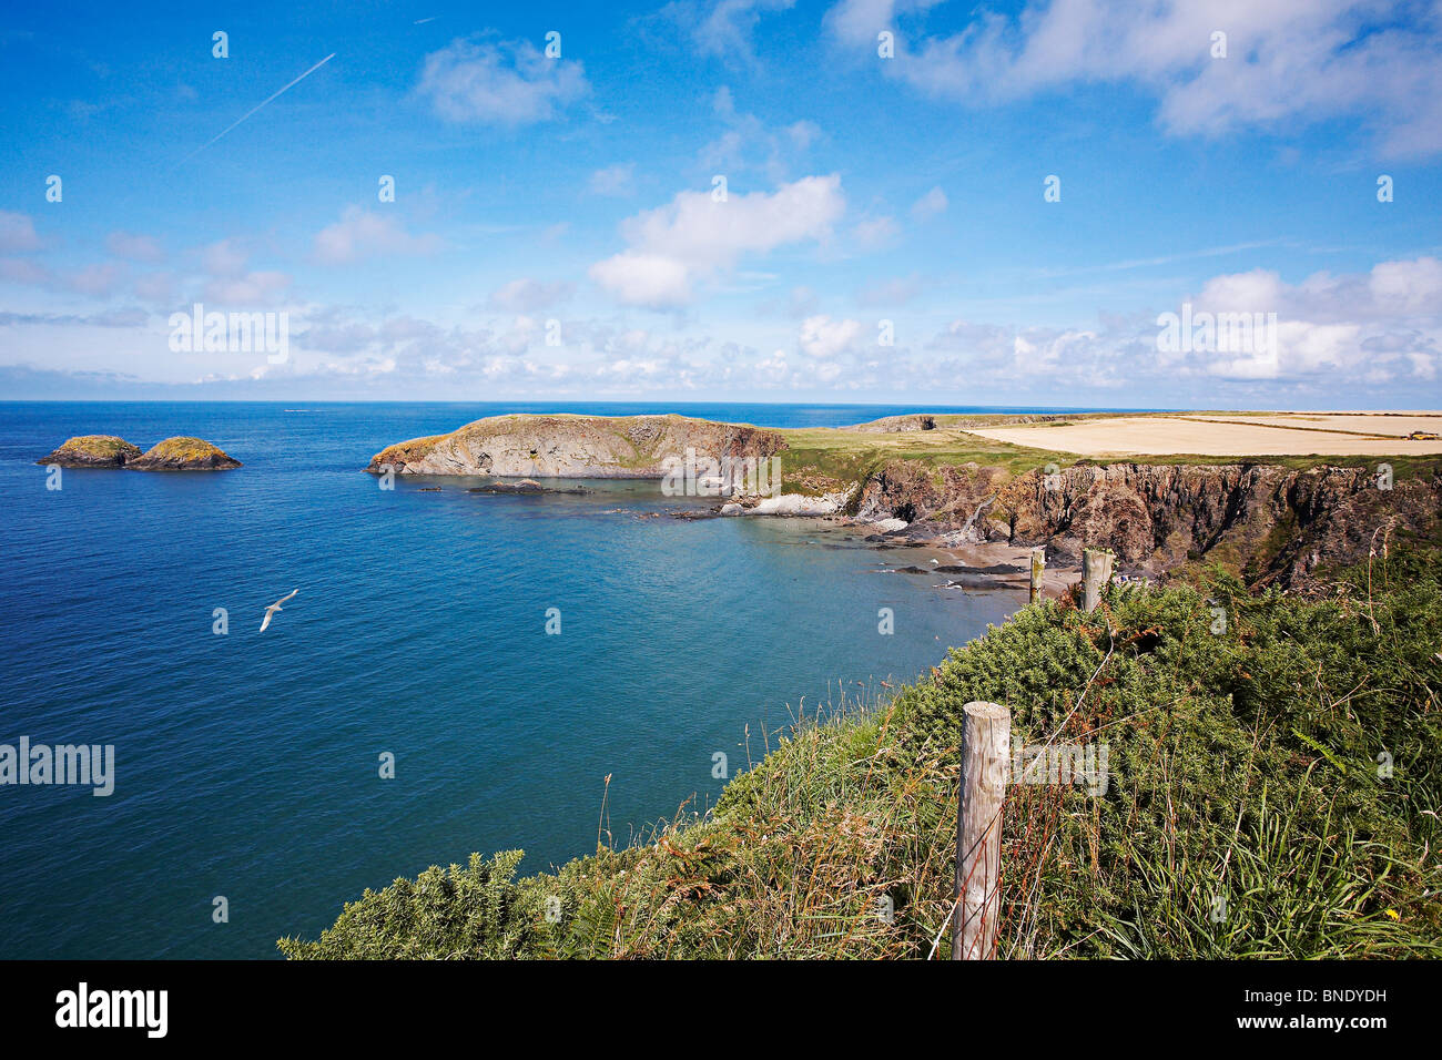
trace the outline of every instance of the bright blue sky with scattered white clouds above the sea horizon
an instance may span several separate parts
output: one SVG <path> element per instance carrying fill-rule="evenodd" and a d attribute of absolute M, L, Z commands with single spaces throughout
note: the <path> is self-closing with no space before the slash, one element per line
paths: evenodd
<path fill-rule="evenodd" d="M 1442 3 L 0 17 L 0 399 L 1442 407 Z"/>

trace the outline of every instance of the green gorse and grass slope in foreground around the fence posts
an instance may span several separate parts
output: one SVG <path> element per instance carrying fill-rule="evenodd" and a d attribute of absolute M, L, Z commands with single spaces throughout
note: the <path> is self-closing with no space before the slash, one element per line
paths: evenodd
<path fill-rule="evenodd" d="M 1327 600 L 1217 573 L 1113 587 L 1090 616 L 1028 607 L 893 701 L 780 736 L 702 819 L 554 875 L 516 880 L 519 852 L 431 868 L 280 948 L 924 958 L 950 909 L 960 711 L 994 699 L 1014 746 L 1109 748 L 1102 795 L 1009 789 L 1001 956 L 1442 956 L 1436 544 Z"/>

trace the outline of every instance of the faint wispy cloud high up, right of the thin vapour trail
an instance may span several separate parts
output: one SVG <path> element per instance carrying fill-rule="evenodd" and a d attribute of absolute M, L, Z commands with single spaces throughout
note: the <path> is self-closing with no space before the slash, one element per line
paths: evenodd
<path fill-rule="evenodd" d="M 453 40 L 425 56 L 417 92 L 446 121 L 529 125 L 590 94 L 572 59 L 548 59 L 526 40 Z"/>

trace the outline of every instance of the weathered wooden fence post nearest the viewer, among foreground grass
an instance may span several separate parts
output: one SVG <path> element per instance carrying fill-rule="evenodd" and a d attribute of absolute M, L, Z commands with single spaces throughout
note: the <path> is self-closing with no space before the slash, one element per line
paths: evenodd
<path fill-rule="evenodd" d="M 966 704 L 962 714 L 952 960 L 989 960 L 1001 913 L 1001 808 L 1011 764 L 1011 711 L 978 701 Z"/>

